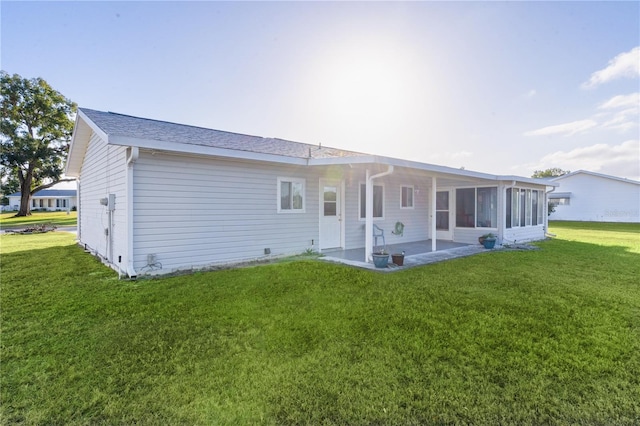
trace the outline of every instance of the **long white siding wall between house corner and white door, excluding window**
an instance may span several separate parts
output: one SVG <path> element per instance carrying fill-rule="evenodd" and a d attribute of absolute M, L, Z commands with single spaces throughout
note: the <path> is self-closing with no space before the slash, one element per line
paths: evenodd
<path fill-rule="evenodd" d="M 267 248 L 271 255 L 312 248 L 318 241 L 320 173 L 142 150 L 134 173 L 136 270 L 144 271 L 149 254 L 170 271 L 259 259 Z M 283 176 L 307 182 L 304 212 L 278 214 Z"/>

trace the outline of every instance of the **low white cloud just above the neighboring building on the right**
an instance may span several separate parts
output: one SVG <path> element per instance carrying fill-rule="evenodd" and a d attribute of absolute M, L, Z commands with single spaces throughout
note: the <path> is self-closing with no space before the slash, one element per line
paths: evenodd
<path fill-rule="evenodd" d="M 640 141 L 628 140 L 619 145 L 596 144 L 571 151 L 557 151 L 529 164 L 531 170 L 559 167 L 563 170 L 588 170 L 633 180 L 640 180 Z"/>

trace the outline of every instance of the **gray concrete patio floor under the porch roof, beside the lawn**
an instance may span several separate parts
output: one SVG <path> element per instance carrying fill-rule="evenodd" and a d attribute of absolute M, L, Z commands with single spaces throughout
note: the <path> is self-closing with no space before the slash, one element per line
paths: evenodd
<path fill-rule="evenodd" d="M 373 263 L 367 263 L 364 261 L 364 247 L 349 250 L 324 250 L 322 252 L 324 256 L 320 259 L 328 262 L 344 263 L 358 268 L 390 272 L 407 269 L 412 266 L 428 265 L 430 263 L 442 262 L 444 260 L 471 256 L 487 251 L 487 249 L 482 247 L 480 244 L 461 244 L 443 240 L 436 241 L 435 252 L 431 251 L 431 240 L 404 244 L 391 244 L 387 245 L 386 248 L 391 254 L 401 253 L 404 251 L 404 265 L 396 266 L 392 264 L 391 257 L 389 257 L 389 266 L 387 268 L 376 268 Z"/>

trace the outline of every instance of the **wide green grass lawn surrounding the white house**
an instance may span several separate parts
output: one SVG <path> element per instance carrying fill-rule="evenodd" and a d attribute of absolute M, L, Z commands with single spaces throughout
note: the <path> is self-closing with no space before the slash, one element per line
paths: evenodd
<path fill-rule="evenodd" d="M 1 423 L 640 423 L 640 226 L 391 274 L 306 260 L 119 281 L 3 235 Z"/>

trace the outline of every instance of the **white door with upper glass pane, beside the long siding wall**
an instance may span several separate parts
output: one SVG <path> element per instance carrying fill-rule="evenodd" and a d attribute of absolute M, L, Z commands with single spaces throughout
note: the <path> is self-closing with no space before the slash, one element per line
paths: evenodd
<path fill-rule="evenodd" d="M 342 247 L 342 182 L 320 180 L 320 250 Z"/>

